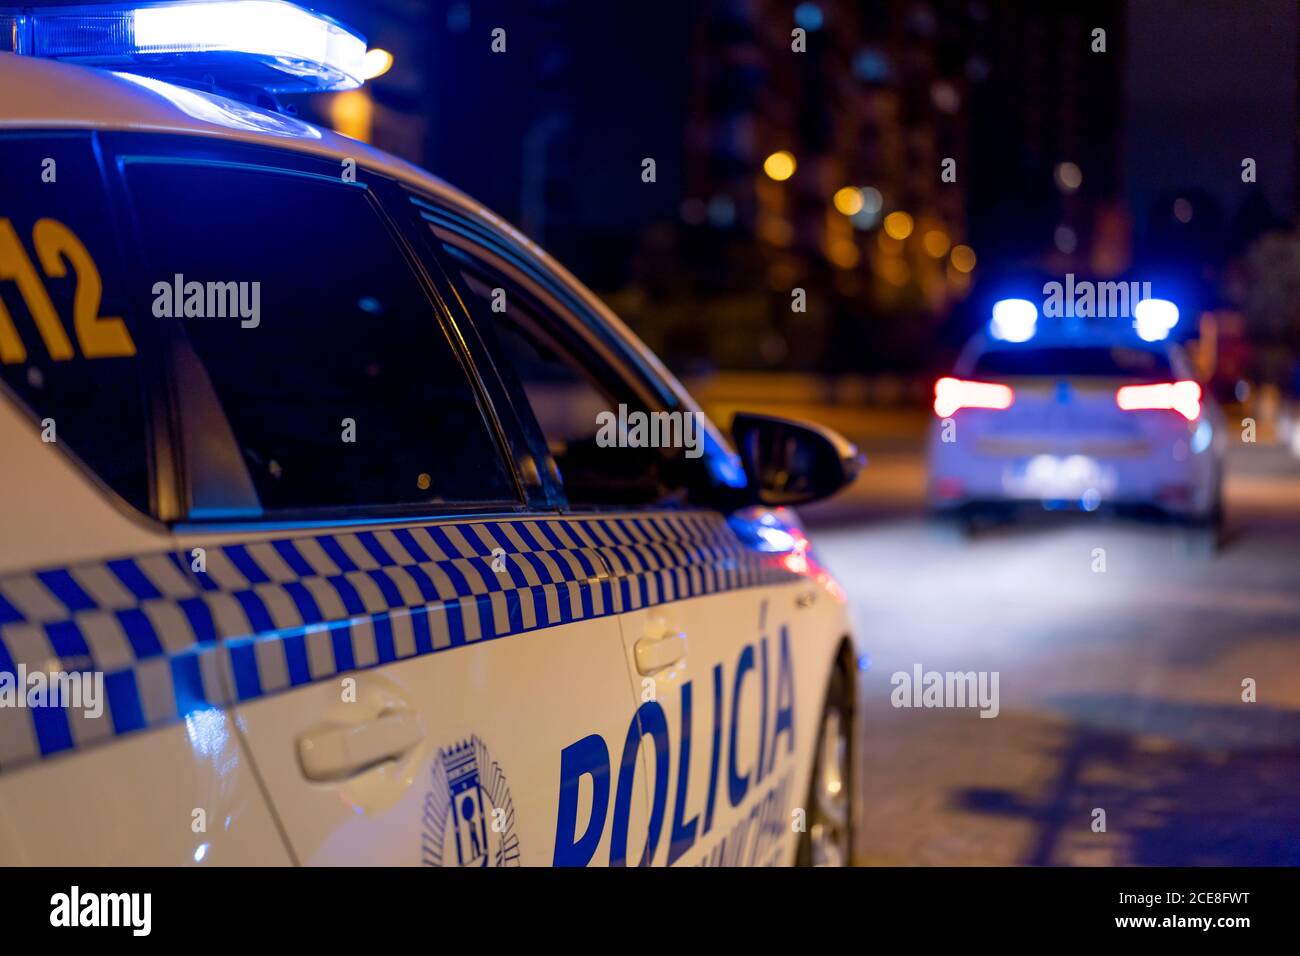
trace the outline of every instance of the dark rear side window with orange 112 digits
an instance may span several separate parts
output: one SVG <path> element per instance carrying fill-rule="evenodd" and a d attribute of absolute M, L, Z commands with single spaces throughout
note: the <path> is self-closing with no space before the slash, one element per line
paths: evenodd
<path fill-rule="evenodd" d="M 0 135 L 0 378 L 42 436 L 143 512 L 142 329 L 90 135 Z"/>

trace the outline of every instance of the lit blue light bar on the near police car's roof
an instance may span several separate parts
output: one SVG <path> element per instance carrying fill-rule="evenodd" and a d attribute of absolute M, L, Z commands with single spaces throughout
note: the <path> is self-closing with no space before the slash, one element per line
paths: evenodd
<path fill-rule="evenodd" d="M 365 38 L 285 0 L 0 10 L 0 49 L 6 48 L 160 79 L 266 92 L 351 90 L 365 77 Z"/>

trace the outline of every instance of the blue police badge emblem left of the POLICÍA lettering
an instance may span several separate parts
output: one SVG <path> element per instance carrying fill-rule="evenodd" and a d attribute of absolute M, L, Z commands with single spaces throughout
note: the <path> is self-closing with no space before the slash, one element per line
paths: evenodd
<path fill-rule="evenodd" d="M 510 784 L 482 740 L 438 750 L 432 783 L 420 853 L 426 866 L 519 866 Z"/>

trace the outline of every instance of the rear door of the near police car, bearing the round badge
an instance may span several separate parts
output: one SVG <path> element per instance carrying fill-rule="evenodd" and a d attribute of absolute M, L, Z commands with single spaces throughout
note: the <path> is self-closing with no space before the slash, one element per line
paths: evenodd
<path fill-rule="evenodd" d="M 516 467 L 386 183 L 117 148 L 148 276 L 261 282 L 256 321 L 168 326 L 177 540 L 295 860 L 552 862 L 562 749 L 625 726 L 608 574 Z"/>

